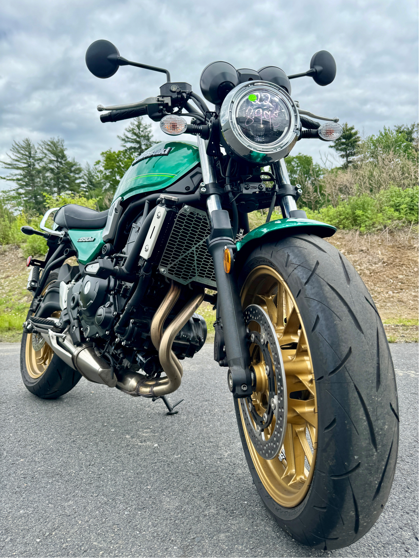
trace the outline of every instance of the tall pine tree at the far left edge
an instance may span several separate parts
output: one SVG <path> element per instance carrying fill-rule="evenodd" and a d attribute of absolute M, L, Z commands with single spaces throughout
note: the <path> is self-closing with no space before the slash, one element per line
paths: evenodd
<path fill-rule="evenodd" d="M 4 194 L 5 201 L 27 213 L 42 213 L 45 209 L 42 153 L 29 138 L 21 142 L 13 141 L 10 151 L 7 153 L 9 160 L 4 161 L 2 166 L 13 172 L 0 178 L 15 182 L 17 186 Z"/>

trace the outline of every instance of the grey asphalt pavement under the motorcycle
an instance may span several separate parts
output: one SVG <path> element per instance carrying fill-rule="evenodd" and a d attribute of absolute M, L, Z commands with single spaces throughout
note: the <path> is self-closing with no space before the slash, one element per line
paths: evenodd
<path fill-rule="evenodd" d="M 0 556 L 417 556 L 418 345 L 391 345 L 400 407 L 392 492 L 374 527 L 338 551 L 293 541 L 252 483 L 225 369 L 205 345 L 184 398 L 129 397 L 82 379 L 56 401 L 23 386 L 0 343 Z"/>

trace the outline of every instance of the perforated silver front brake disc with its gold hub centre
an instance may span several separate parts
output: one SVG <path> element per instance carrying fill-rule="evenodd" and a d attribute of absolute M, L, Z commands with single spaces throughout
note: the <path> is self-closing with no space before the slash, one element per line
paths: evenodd
<path fill-rule="evenodd" d="M 268 314 L 251 304 L 244 311 L 244 318 L 254 393 L 252 397 L 240 398 L 241 412 L 255 450 L 264 459 L 274 459 L 282 448 L 287 424 L 284 363 Z"/>

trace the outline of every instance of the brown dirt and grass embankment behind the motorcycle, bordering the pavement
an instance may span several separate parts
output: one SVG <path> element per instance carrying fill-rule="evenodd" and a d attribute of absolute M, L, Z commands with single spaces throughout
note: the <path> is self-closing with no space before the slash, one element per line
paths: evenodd
<path fill-rule="evenodd" d="M 337 231 L 326 239 L 355 266 L 368 287 L 391 342 L 418 341 L 417 230 L 360 234 Z M 17 247 L 0 248 L 0 340 L 20 339 L 22 316 L 31 296 L 26 291 L 28 268 Z M 215 312 L 204 303 L 198 310 L 213 339 Z"/>

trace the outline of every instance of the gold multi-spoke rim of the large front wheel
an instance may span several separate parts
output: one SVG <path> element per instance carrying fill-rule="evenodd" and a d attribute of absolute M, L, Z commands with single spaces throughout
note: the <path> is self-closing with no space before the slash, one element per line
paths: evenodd
<path fill-rule="evenodd" d="M 272 460 L 255 450 L 241 420 L 251 459 L 269 496 L 281 506 L 297 506 L 308 492 L 313 478 L 317 450 L 316 386 L 304 324 L 298 306 L 283 277 L 269 266 L 254 268 L 241 291 L 241 304 L 261 306 L 277 334 L 287 381 L 287 426 L 282 450 Z M 257 357 L 256 357 L 257 359 Z M 252 363 L 257 365 L 258 363 Z M 258 367 L 260 368 L 260 367 Z M 252 396 L 259 413 L 266 399 L 263 381 Z"/>

